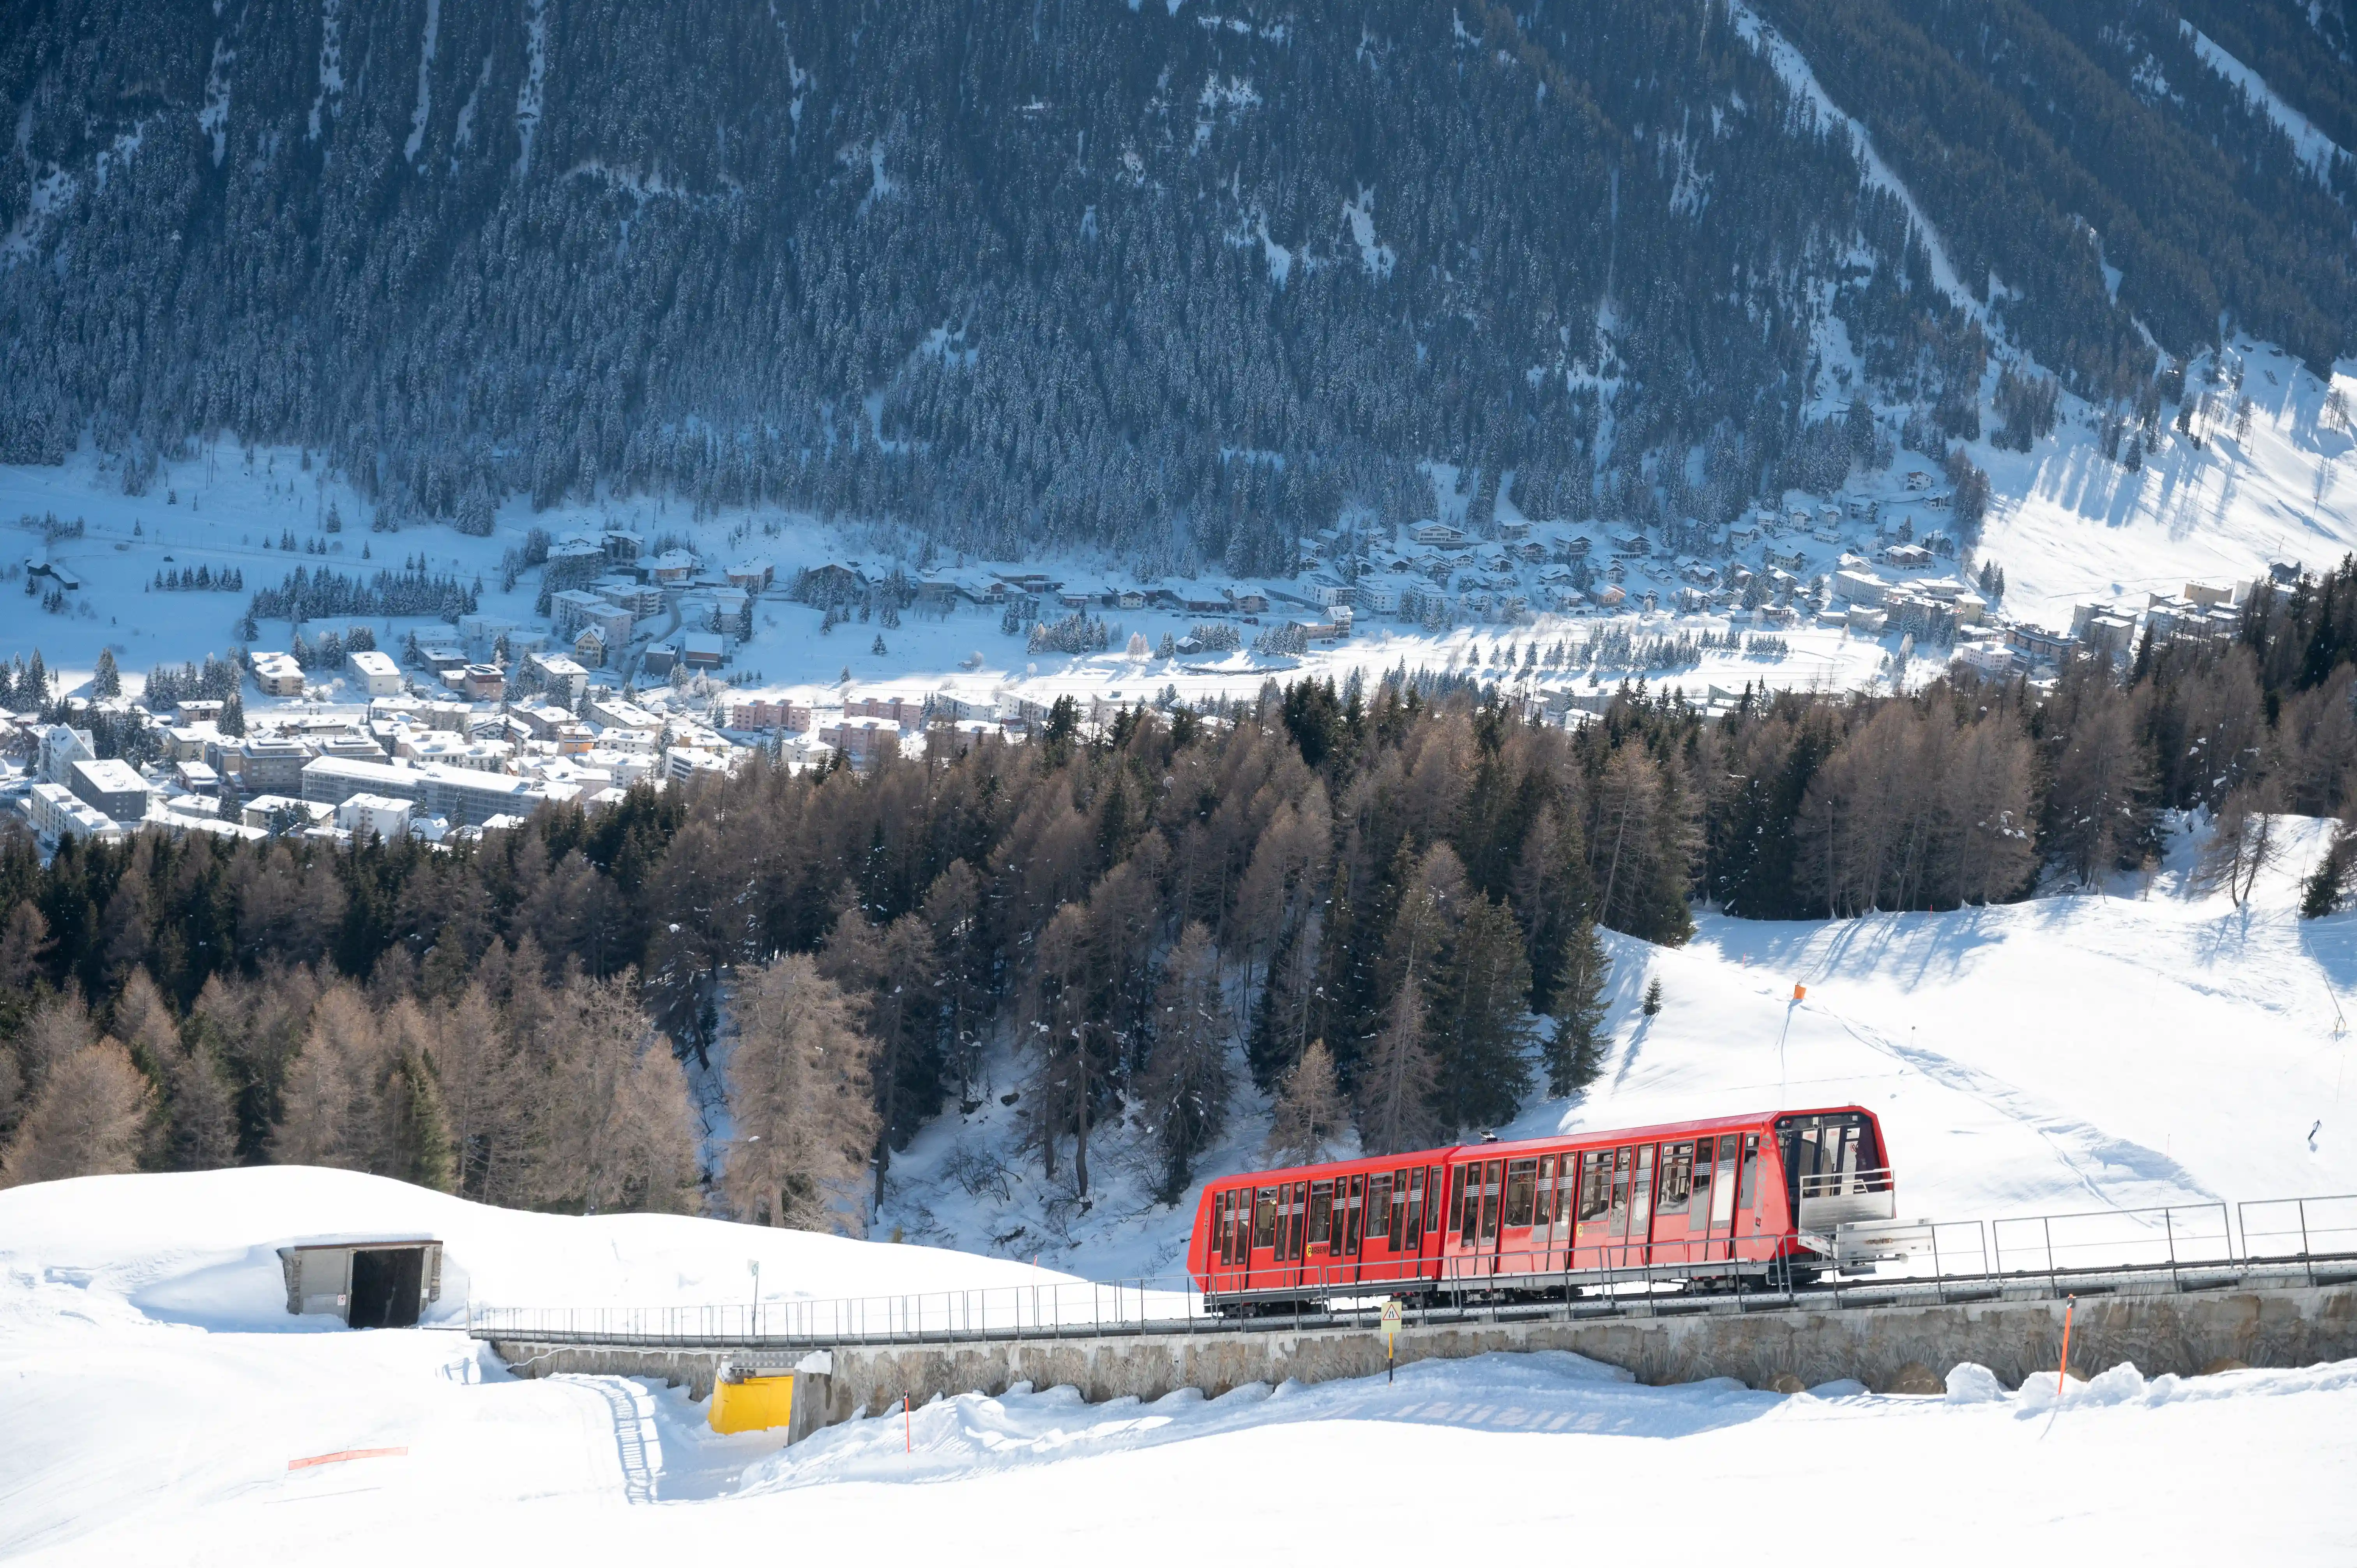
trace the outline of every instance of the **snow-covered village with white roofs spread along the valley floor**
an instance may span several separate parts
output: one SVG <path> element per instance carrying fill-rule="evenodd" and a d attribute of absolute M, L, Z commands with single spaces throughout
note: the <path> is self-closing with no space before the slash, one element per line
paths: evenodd
<path fill-rule="evenodd" d="M 867 771 L 1023 740 L 1058 705 L 1072 726 L 1136 705 L 1211 714 L 1303 677 L 1464 684 L 1534 724 L 1579 724 L 1636 684 L 1706 712 L 1942 670 L 2044 684 L 2081 648 L 2126 663 L 2147 639 L 2230 639 L 2256 587 L 2300 575 L 2272 561 L 2074 599 L 2067 627 L 2051 597 L 2013 615 L 2003 561 L 1959 540 L 1985 498 L 1959 521 L 1956 479 L 1987 479 L 1907 455 L 1831 495 L 1671 528 L 1527 519 L 1511 474 L 1459 490 L 1438 469 L 1435 516 L 1346 514 L 1301 538 L 1296 575 L 1254 580 L 938 559 L 872 535 L 846 549 L 851 531 L 808 519 L 679 528 L 629 507 L 368 533 L 354 561 L 342 507 L 368 505 L 280 465 L 247 453 L 222 483 L 222 457 L 191 450 L 205 481 L 186 507 L 167 486 L 177 526 L 151 488 L 92 495 L 97 523 L 21 514 L 7 575 L 47 613 L 28 641 L 57 663 L 9 672 L 0 792 L 47 844 L 141 823 L 441 842 L 757 752 Z"/>

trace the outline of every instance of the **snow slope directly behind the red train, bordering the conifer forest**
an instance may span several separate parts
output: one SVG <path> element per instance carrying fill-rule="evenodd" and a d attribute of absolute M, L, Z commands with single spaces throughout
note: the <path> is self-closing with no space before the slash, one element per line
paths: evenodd
<path fill-rule="evenodd" d="M 2326 835 L 2279 818 L 2279 856 L 2244 905 L 2197 887 L 2206 828 L 2183 823 L 2150 889 L 2124 877 L 1836 922 L 1704 915 L 1685 948 L 1605 934 L 1603 1075 L 1497 1132 L 1862 1103 L 1883 1120 L 1907 1219 L 2352 1193 L 2357 915 L 2298 917 Z M 1664 1007 L 1645 1016 L 1655 979 Z M 1266 1129 L 1247 1092 L 1204 1174 L 1261 1165 Z M 1153 1151 L 1134 1137 L 1096 1151 L 1082 1210 L 1068 1181 L 1039 1181 L 1014 1111 L 985 1096 L 893 1160 L 884 1224 L 1094 1278 L 1176 1273 L 1202 1188 L 1153 1203 Z"/>

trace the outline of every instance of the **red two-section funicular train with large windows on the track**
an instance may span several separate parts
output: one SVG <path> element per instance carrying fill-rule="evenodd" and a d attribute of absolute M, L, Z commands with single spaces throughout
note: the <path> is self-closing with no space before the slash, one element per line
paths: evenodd
<path fill-rule="evenodd" d="M 1890 1221 L 1895 1203 L 1871 1111 L 1770 1111 L 1221 1177 L 1195 1210 L 1188 1273 L 1235 1313 L 1631 1278 L 1805 1283 L 1857 1261 L 1836 1257 L 1836 1231 Z"/>

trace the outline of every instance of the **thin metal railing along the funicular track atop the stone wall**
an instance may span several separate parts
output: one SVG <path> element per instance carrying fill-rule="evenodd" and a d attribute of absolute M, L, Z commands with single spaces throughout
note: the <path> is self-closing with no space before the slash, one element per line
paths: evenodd
<path fill-rule="evenodd" d="M 1301 1261 L 1252 1271 L 1252 1292 L 1282 1297 L 1233 1318 L 1228 1280 L 1209 1299 L 1188 1276 L 1037 1280 L 983 1290 L 931 1290 L 834 1299 L 695 1306 L 469 1306 L 476 1339 L 646 1346 L 959 1344 L 1200 1335 L 1252 1327 L 1376 1323 L 1381 1304 L 1414 1285 L 1412 1323 L 1678 1316 L 1780 1306 L 1869 1309 L 2018 1299 L 2185 1292 L 2237 1285 L 2357 1280 L 2357 1195 L 2199 1203 L 2150 1210 L 1926 1221 L 1921 1252 L 1843 1278 L 1822 1257 L 1742 1257 L 1775 1238 L 1711 1236 L 1692 1243 L 1541 1245 L 1483 1257 L 1421 1259 L 1414 1280 L 1393 1259 Z M 1735 1252 L 1730 1257 L 1730 1250 Z M 1716 1254 L 1716 1257 L 1714 1257 Z M 1417 1259 L 1402 1259 L 1417 1261 Z M 1789 1269 L 1824 1269 L 1815 1283 Z M 1386 1271 L 1374 1278 L 1372 1271 Z M 1226 1271 L 1235 1276 L 1237 1271 Z M 1699 1285 L 1699 1287 L 1697 1287 Z"/>

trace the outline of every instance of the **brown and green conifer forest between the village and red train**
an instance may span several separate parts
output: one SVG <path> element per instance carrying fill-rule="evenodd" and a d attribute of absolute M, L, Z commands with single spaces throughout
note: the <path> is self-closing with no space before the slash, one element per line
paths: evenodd
<path fill-rule="evenodd" d="M 292 1160 L 559 1210 L 858 1226 L 893 1151 L 1014 1096 L 1039 1172 L 1242 1101 L 1270 1153 L 1478 1134 L 1603 1061 L 1610 943 L 2150 879 L 2183 813 L 2242 896 L 2352 813 L 2357 561 L 2225 646 L 2051 691 L 1624 689 L 1579 729 L 1395 677 L 1211 712 L 1065 698 L 1023 745 L 752 764 L 478 846 L 0 842 L 0 1179 Z M 2308 887 L 2341 905 L 2357 835 Z M 2126 882 L 2121 875 L 2131 872 Z M 700 1170 L 688 1085 L 726 1054 Z M 747 1137 L 759 1134 L 759 1137 Z"/>

